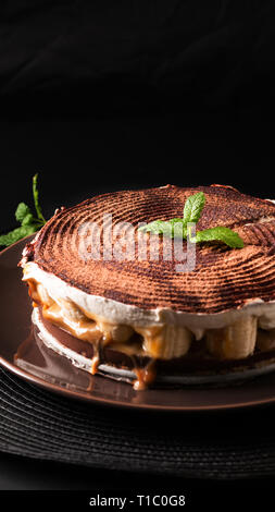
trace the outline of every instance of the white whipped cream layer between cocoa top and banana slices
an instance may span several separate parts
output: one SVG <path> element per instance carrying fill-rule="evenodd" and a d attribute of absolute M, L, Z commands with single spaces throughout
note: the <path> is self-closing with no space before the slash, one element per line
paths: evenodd
<path fill-rule="evenodd" d="M 23 267 L 23 280 L 34 279 L 42 284 L 53 301 L 72 301 L 87 313 L 105 318 L 113 324 L 124 324 L 132 327 L 172 324 L 188 328 L 197 340 L 203 337 L 207 329 L 226 327 L 242 318 L 243 315 L 255 316 L 259 319 L 259 327 L 262 329 L 275 328 L 275 301 L 264 302 L 261 298 L 252 298 L 247 301 L 241 308 L 214 314 L 191 314 L 161 307 L 142 309 L 134 305 L 86 293 L 67 284 L 53 273 L 46 272 L 33 261 L 26 263 Z"/>

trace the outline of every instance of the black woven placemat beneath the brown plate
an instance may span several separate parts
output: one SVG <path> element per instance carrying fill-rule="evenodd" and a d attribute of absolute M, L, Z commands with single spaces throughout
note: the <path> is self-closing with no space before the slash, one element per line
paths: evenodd
<path fill-rule="evenodd" d="M 176 414 L 66 399 L 0 368 L 0 450 L 121 471 L 233 479 L 275 474 L 274 407 Z"/>

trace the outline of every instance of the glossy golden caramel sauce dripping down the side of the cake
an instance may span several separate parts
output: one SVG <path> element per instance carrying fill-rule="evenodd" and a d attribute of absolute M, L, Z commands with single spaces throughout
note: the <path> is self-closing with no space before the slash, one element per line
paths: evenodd
<path fill-rule="evenodd" d="M 29 287 L 29 295 L 33 298 L 33 306 L 42 306 L 42 316 L 51 324 L 67 331 L 75 338 L 92 344 L 93 356 L 91 358 L 90 373 L 95 375 L 101 363 L 101 349 L 108 346 L 114 351 L 122 352 L 133 359 L 133 370 L 137 376 L 134 381 L 135 390 L 145 390 L 155 379 L 155 363 L 161 357 L 160 355 L 160 339 L 162 336 L 163 326 L 152 326 L 149 328 L 133 328 L 132 331 L 124 329 L 124 339 L 120 341 L 113 339 L 113 329 L 120 326 L 105 321 L 102 317 L 97 315 L 88 315 L 87 312 L 82 310 L 78 306 L 70 301 L 63 301 L 60 304 L 49 297 L 47 290 L 36 282 L 34 279 L 27 279 Z M 39 293 L 40 292 L 40 293 Z M 61 302 L 61 301 L 60 301 Z M 64 307 L 63 307 L 64 306 Z M 258 344 L 257 350 L 264 352 L 274 348 L 275 330 L 274 332 L 263 332 L 261 338 L 261 330 L 258 330 Z M 145 343 L 147 341 L 147 343 Z M 150 342 L 150 343 L 149 343 Z M 198 342 L 197 342 L 198 343 Z M 150 344 L 150 351 L 148 345 Z M 192 343 L 195 348 L 196 344 Z M 198 345 L 199 346 L 199 345 Z M 146 348 L 148 350 L 146 350 Z M 189 355 L 192 352 L 191 348 Z M 146 366 L 141 365 L 141 357 L 150 357 Z M 207 351 L 203 345 L 202 353 L 200 354 L 203 361 L 208 357 L 212 358 L 212 354 Z"/>

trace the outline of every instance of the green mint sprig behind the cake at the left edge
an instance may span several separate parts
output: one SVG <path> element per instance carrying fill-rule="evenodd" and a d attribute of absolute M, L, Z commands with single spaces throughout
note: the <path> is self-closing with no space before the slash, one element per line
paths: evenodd
<path fill-rule="evenodd" d="M 24 236 L 35 233 L 46 223 L 38 200 L 37 180 L 38 174 L 35 174 L 33 176 L 33 196 L 36 216 L 32 214 L 30 208 L 25 203 L 20 203 L 15 210 L 15 219 L 21 223 L 21 227 L 10 231 L 10 233 L 1 234 L 0 246 L 5 245 L 8 247 L 9 245 L 14 244 L 14 242 L 24 239 Z"/>

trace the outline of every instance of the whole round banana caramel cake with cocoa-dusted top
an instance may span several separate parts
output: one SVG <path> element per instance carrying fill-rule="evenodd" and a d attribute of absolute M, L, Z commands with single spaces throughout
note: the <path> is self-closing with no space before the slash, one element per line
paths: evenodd
<path fill-rule="evenodd" d="M 241 245 L 140 229 L 159 219 L 182 225 L 186 202 L 198 194 L 204 205 L 196 230 L 226 228 Z M 188 240 L 196 265 L 180 271 L 174 246 L 188 254 Z M 275 368 L 274 255 L 272 200 L 224 185 L 166 185 L 57 210 L 20 265 L 33 322 L 50 349 L 145 389 Z"/>

